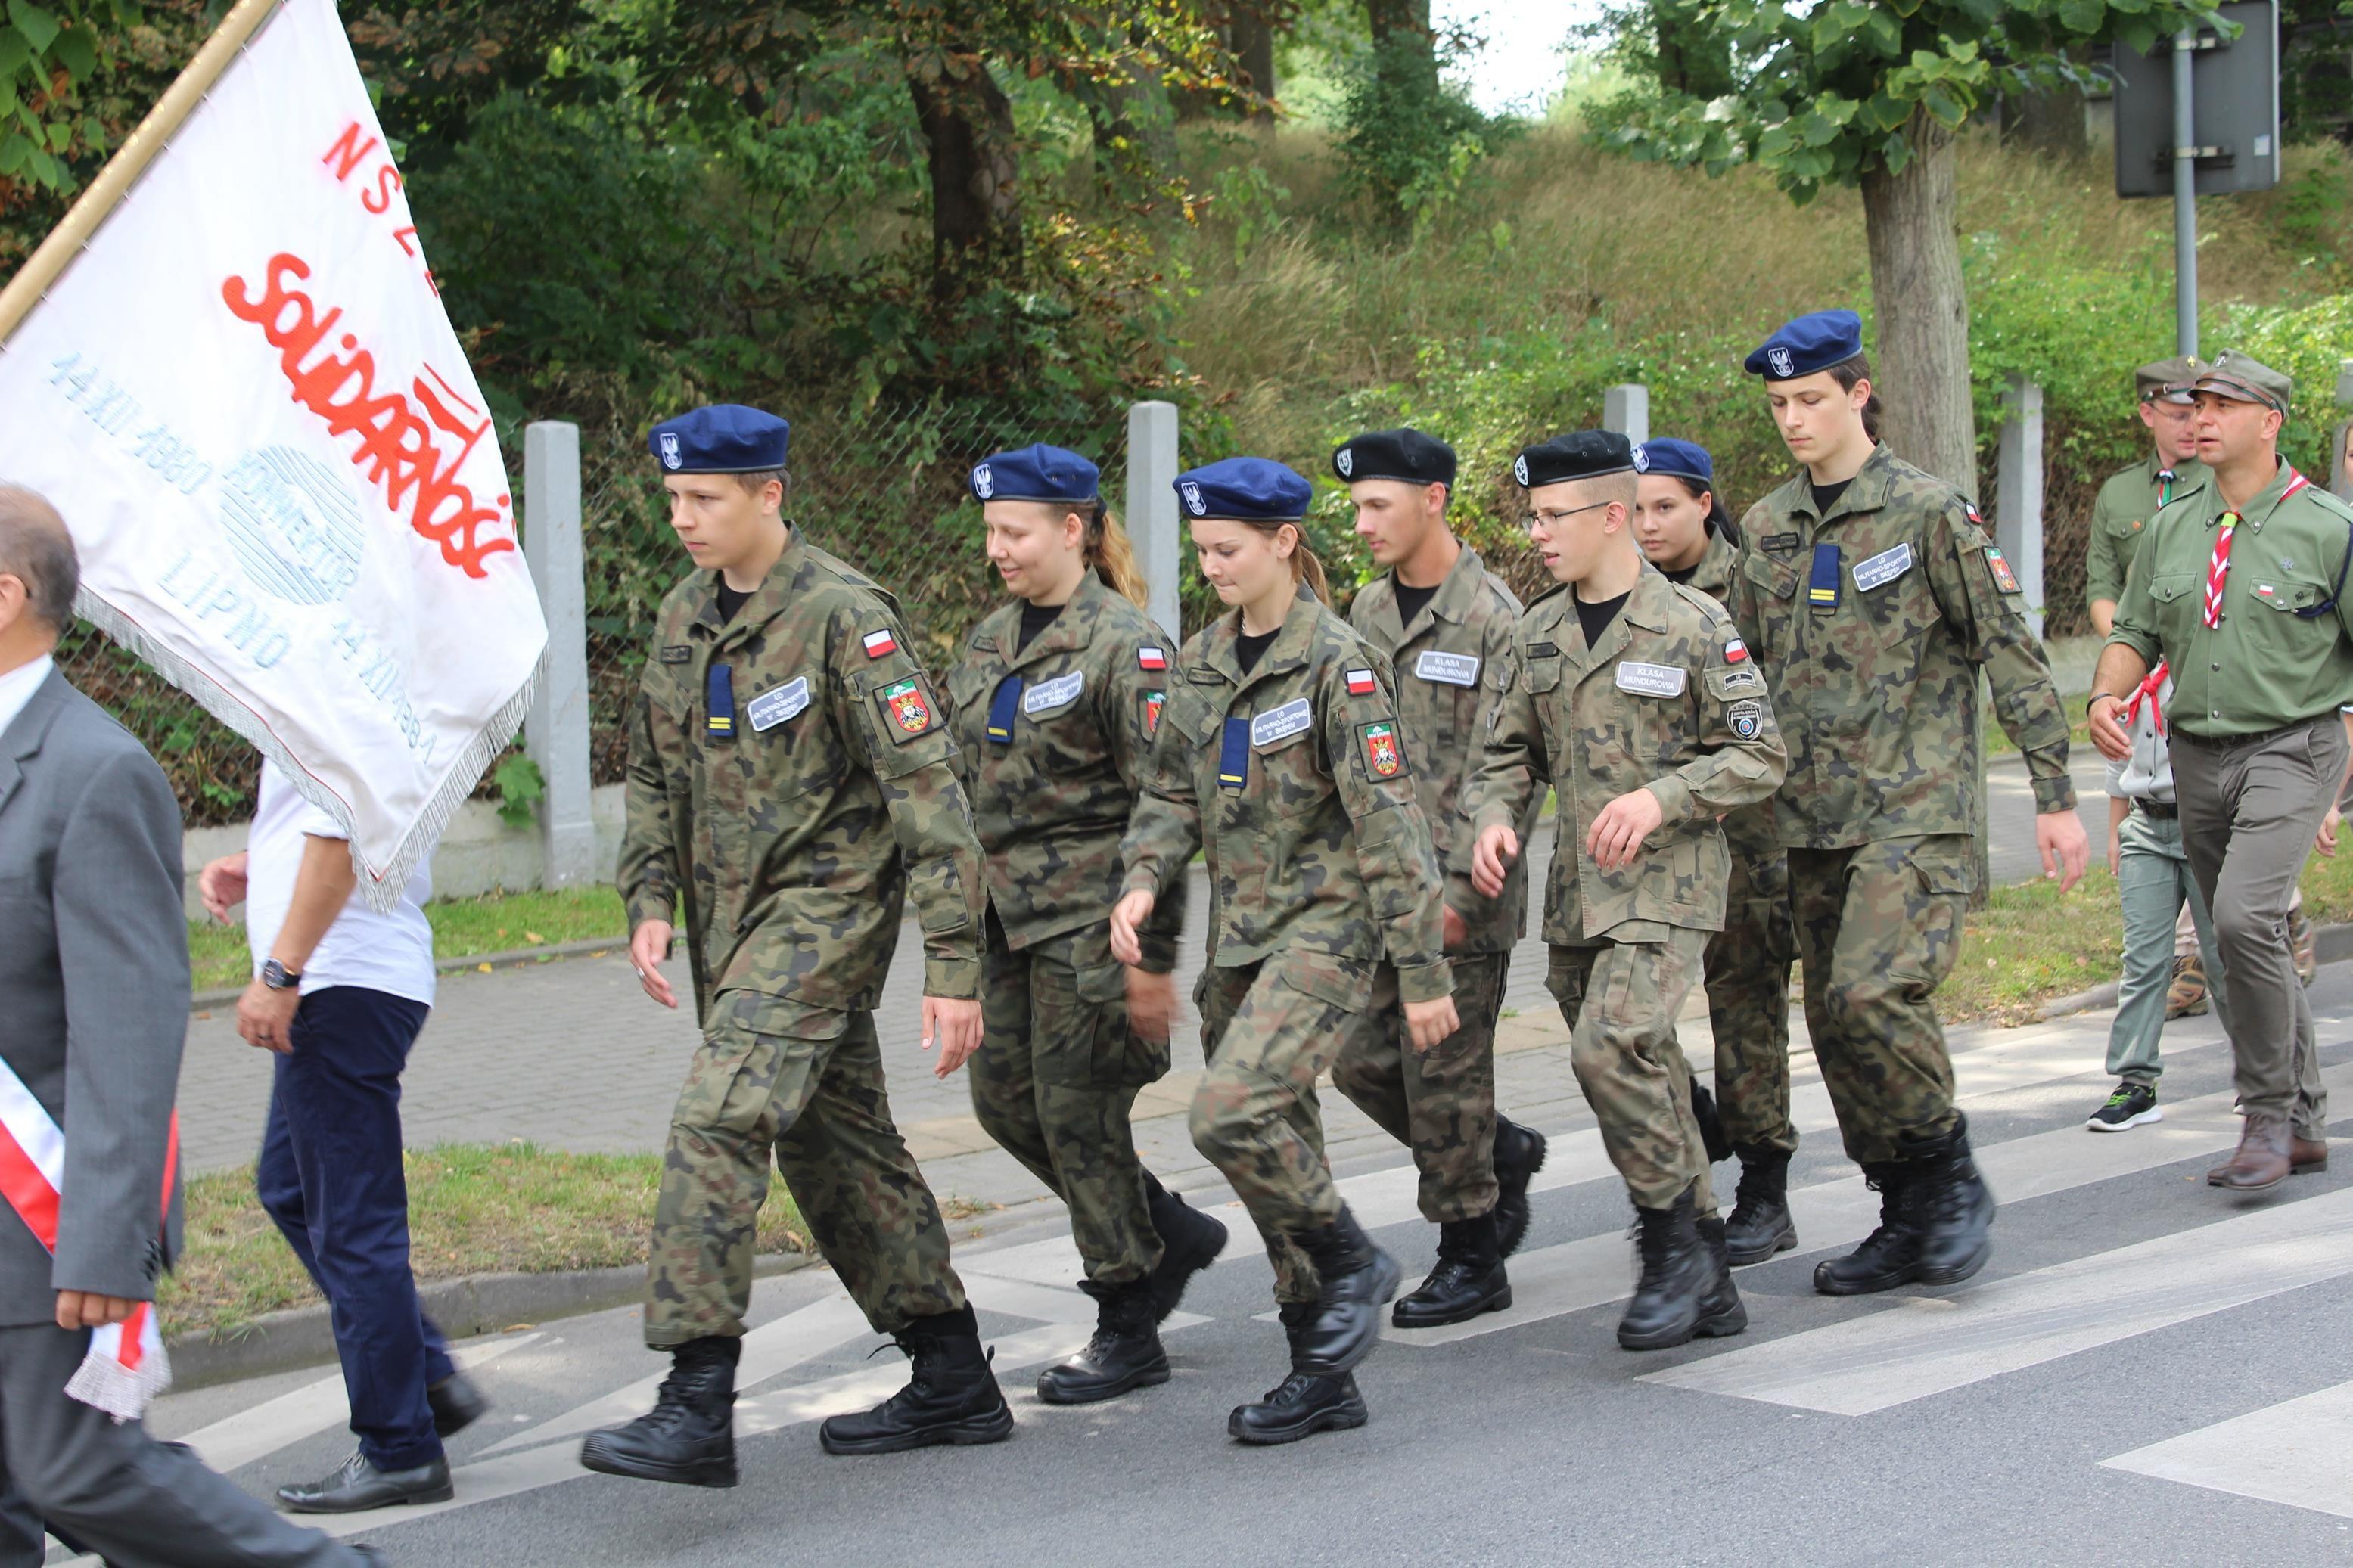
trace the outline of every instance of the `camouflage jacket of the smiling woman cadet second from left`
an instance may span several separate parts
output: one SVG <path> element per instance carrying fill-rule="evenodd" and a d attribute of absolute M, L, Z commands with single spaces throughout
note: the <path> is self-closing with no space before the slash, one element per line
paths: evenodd
<path fill-rule="evenodd" d="M 1016 651 L 1021 599 L 965 639 L 948 672 L 955 769 L 1012 947 L 1078 931 L 1120 898 L 1120 835 L 1144 792 L 1176 646 L 1092 571 Z M 1007 684 L 1012 682 L 1012 684 Z M 1153 910 L 1144 969 L 1176 969 L 1186 882 Z"/>

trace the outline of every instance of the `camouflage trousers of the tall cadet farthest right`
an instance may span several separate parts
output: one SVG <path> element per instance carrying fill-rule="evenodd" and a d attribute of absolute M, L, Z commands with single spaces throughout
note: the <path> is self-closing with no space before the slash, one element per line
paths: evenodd
<path fill-rule="evenodd" d="M 1969 835 L 1788 851 L 1805 1025 L 1857 1164 L 1897 1159 L 1901 1133 L 1953 1128 L 1934 997 L 1960 954 L 1974 863 Z"/>

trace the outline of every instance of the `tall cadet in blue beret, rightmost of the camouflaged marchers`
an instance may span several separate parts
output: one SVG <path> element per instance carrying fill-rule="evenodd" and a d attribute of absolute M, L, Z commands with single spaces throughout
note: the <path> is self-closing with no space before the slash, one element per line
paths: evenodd
<path fill-rule="evenodd" d="M 1880 1194 L 1880 1225 L 1821 1262 L 1814 1288 L 1958 1284 L 1993 1255 L 1993 1194 L 1953 1107 L 1934 1004 L 1977 886 L 1979 672 L 2026 755 L 2035 844 L 2061 889 L 2089 856 L 2066 715 L 1977 508 L 1878 444 L 1857 315 L 1788 322 L 1748 371 L 1805 473 L 1741 520 L 1729 609 L 1788 741 L 1774 825 L 1814 1060 L 1847 1157 Z"/>

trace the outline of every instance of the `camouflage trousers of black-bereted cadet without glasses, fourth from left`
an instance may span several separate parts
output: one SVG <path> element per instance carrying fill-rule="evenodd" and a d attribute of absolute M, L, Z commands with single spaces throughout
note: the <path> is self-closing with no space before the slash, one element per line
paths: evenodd
<path fill-rule="evenodd" d="M 1405 1016 L 1365 1030 L 1332 1065 L 1332 1086 L 1414 1152 L 1421 1218 L 1475 1220 L 1494 1208 L 1494 1020 L 1504 1011 L 1508 952 L 1452 959 L 1461 1027 L 1414 1051 Z"/>

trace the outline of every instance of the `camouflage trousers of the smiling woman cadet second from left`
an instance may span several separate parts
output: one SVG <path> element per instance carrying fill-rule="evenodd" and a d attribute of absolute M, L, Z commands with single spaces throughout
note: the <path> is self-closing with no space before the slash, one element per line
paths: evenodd
<path fill-rule="evenodd" d="M 965 1070 L 972 1114 L 1071 1208 L 1071 1239 L 1096 1284 L 1160 1262 L 1127 1114 L 1167 1070 L 1167 1041 L 1127 1027 L 1127 969 L 1111 957 L 1108 922 L 1014 952 L 991 912 L 981 1048 Z"/>

